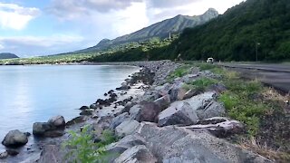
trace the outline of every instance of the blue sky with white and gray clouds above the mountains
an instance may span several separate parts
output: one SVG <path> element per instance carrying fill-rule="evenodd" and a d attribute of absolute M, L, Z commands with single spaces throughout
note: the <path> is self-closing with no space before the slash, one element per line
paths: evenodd
<path fill-rule="evenodd" d="M 177 14 L 223 14 L 243 0 L 0 0 L 0 53 L 31 57 L 91 47 Z"/>

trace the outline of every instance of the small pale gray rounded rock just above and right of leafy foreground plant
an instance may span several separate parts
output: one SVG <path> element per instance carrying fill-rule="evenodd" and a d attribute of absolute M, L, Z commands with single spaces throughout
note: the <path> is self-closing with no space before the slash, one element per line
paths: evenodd
<path fill-rule="evenodd" d="M 131 135 L 140 127 L 140 122 L 136 120 L 125 120 L 115 129 L 115 133 L 119 137 Z"/>

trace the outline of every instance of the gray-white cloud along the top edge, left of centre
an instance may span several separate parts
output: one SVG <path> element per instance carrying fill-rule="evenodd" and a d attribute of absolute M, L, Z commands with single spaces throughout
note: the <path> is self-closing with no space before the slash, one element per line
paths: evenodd
<path fill-rule="evenodd" d="M 142 2 L 142 0 L 53 0 L 46 11 L 61 19 L 70 20 L 88 14 L 123 10 L 136 2 Z"/>

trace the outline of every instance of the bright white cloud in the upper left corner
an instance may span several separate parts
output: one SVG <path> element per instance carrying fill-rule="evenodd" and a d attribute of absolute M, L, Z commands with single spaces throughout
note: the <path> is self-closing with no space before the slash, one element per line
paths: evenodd
<path fill-rule="evenodd" d="M 34 7 L 28 8 L 0 2 L 0 26 L 3 29 L 22 30 L 39 14 L 40 10 Z"/>

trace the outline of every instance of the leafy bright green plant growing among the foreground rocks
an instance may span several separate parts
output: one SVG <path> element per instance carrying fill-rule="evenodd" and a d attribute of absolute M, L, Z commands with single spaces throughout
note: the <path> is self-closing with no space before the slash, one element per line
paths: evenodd
<path fill-rule="evenodd" d="M 82 129 L 81 133 L 70 131 L 71 139 L 63 143 L 63 148 L 69 149 L 65 160 L 73 159 L 73 162 L 108 162 L 112 155 L 105 151 L 104 147 L 117 141 L 111 130 L 102 132 L 102 140 L 94 142 L 89 126 Z"/>

